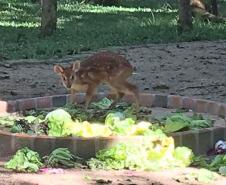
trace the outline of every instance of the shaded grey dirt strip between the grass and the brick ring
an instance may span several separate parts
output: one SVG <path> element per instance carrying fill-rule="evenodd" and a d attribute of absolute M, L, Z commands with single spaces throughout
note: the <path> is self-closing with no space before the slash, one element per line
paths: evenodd
<path fill-rule="evenodd" d="M 130 80 L 140 92 L 186 95 L 226 102 L 226 42 L 192 42 L 116 47 L 135 68 Z M 63 59 L 0 62 L 0 98 L 17 99 L 67 93 L 53 65 Z M 99 91 L 106 90 L 101 87 Z"/>

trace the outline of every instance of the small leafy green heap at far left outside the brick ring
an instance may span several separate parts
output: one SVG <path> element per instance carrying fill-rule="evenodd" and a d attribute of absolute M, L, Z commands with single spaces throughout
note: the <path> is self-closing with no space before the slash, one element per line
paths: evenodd
<path fill-rule="evenodd" d="M 37 152 L 25 147 L 16 152 L 4 167 L 19 172 L 37 172 L 43 164 Z"/>

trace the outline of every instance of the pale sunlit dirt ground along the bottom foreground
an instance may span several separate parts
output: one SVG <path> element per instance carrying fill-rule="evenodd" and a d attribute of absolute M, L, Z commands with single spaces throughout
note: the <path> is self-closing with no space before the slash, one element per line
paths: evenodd
<path fill-rule="evenodd" d="M 0 168 L 0 185 L 225 185 L 226 178 L 216 174 L 209 183 L 192 178 L 195 168 L 143 171 L 65 170 L 60 174 L 12 173 Z M 188 176 L 190 174 L 190 178 Z"/>

